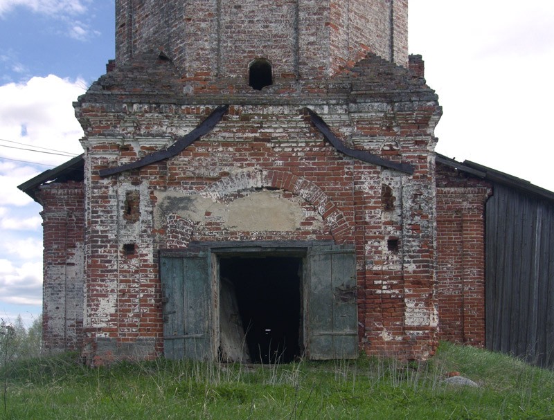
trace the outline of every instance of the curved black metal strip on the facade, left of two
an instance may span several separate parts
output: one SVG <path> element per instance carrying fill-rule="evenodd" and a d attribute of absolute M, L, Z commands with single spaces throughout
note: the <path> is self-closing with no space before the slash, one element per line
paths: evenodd
<path fill-rule="evenodd" d="M 159 150 L 158 152 L 154 152 L 152 154 L 144 156 L 138 161 L 134 161 L 132 163 L 126 163 L 125 165 L 108 167 L 107 169 L 100 170 L 100 176 L 114 175 L 127 170 L 150 165 L 151 163 L 163 161 L 163 159 L 172 158 L 173 156 L 179 154 L 184 149 L 186 149 L 186 147 L 192 145 L 196 140 L 204 136 L 204 134 L 208 134 L 210 131 L 212 131 L 213 127 L 215 127 L 215 125 L 217 125 L 217 123 L 221 121 L 228 109 L 229 105 L 217 107 L 208 116 L 208 118 L 200 122 L 200 124 L 197 125 L 197 127 L 193 129 L 193 131 L 190 131 L 190 133 L 188 133 L 186 136 L 177 138 L 175 143 L 173 143 L 167 149 Z"/>

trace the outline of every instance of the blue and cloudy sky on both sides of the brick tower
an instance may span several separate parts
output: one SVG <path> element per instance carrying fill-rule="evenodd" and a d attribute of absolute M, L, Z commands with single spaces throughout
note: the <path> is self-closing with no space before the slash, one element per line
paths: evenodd
<path fill-rule="evenodd" d="M 114 0 L 0 0 L 0 318 L 42 311 L 42 210 L 17 185 L 82 152 L 72 102 L 115 56 Z M 409 0 L 436 151 L 554 190 L 554 1 Z M 40 147 L 40 152 L 25 149 Z"/>

